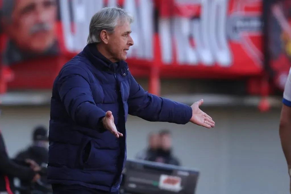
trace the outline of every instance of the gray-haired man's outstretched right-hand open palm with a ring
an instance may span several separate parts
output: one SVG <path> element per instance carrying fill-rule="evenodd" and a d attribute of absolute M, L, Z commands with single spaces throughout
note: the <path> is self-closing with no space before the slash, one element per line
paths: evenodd
<path fill-rule="evenodd" d="M 203 104 L 203 99 L 199 100 L 198 102 L 194 102 L 192 104 L 192 118 L 190 122 L 206 127 L 211 128 L 214 127 L 215 123 L 210 116 L 200 110 L 199 106 Z"/>

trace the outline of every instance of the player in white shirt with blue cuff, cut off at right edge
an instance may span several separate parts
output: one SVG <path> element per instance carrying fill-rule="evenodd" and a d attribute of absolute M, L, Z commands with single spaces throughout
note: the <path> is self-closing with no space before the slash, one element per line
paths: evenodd
<path fill-rule="evenodd" d="M 288 173 L 291 178 L 291 68 L 283 93 L 283 106 L 281 110 L 279 134 L 281 145 L 288 165 Z M 291 193 L 291 179 L 290 179 Z"/>

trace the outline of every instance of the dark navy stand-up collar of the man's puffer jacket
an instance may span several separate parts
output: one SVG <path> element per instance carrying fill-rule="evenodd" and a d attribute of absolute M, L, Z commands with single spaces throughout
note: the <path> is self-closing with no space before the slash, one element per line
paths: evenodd
<path fill-rule="evenodd" d="M 90 62 L 96 67 L 102 70 L 114 71 L 125 66 L 125 61 L 118 61 L 116 63 L 111 62 L 108 58 L 103 56 L 96 48 L 95 44 L 88 44 L 83 49 L 82 53 L 90 60 Z"/>

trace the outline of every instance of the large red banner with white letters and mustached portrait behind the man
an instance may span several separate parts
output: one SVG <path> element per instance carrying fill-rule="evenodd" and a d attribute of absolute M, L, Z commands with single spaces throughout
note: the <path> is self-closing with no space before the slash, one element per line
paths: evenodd
<path fill-rule="evenodd" d="M 86 45 L 92 15 L 117 4 L 135 17 L 127 60 L 135 76 L 152 66 L 164 77 L 263 70 L 261 0 L 0 1 L 2 63 L 15 75 L 10 88 L 51 88 L 61 66 Z"/>

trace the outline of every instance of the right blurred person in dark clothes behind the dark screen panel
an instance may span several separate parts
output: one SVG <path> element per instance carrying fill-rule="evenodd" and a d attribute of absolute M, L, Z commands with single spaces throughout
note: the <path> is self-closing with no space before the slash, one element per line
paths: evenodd
<path fill-rule="evenodd" d="M 155 157 L 149 158 L 149 161 L 179 166 L 179 160 L 173 156 L 171 132 L 166 129 L 162 130 L 159 133 L 159 138 L 161 141 L 160 148 L 158 149 Z"/>

